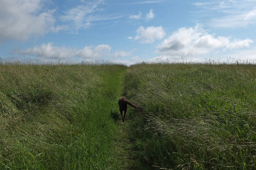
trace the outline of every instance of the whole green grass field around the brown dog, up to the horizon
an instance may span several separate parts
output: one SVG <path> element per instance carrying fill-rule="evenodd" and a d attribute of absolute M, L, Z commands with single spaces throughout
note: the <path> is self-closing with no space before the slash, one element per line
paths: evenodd
<path fill-rule="evenodd" d="M 256 66 L 0 66 L 0 169 L 253 169 Z M 118 97 L 129 108 L 122 123 Z"/>

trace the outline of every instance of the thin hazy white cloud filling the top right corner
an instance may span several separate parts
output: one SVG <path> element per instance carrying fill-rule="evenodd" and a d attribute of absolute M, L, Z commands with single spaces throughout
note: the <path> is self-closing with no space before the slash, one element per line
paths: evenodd
<path fill-rule="evenodd" d="M 256 1 L 216 0 L 214 3 L 194 5 L 203 9 L 201 13 L 207 13 L 212 17 L 207 22 L 211 27 L 237 28 L 256 24 Z"/>

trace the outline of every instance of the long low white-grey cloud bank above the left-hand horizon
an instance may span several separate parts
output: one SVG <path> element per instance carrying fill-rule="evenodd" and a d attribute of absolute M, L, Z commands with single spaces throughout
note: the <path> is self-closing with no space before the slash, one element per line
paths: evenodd
<path fill-rule="evenodd" d="M 65 46 L 53 46 L 52 43 L 47 43 L 16 53 L 32 55 L 40 59 L 72 59 L 74 57 L 81 59 L 102 59 L 104 57 L 127 57 L 131 55 L 132 51 L 111 53 L 111 46 L 109 45 L 84 46 L 82 49 L 77 49 Z"/>

